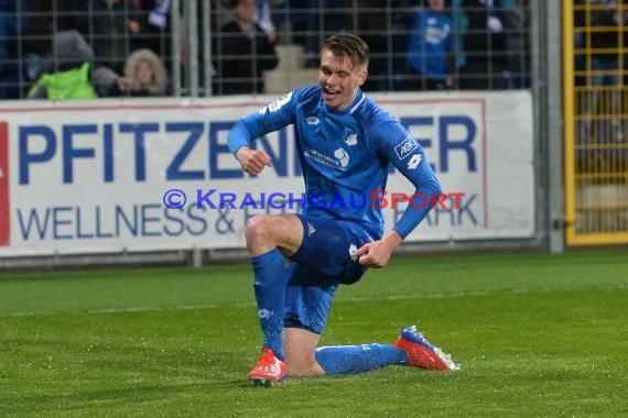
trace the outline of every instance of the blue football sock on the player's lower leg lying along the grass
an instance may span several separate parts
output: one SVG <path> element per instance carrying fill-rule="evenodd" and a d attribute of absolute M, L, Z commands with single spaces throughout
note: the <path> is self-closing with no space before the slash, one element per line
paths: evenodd
<path fill-rule="evenodd" d="M 388 344 L 322 346 L 316 349 L 315 358 L 328 375 L 354 374 L 393 364 L 408 364 L 405 352 Z"/>

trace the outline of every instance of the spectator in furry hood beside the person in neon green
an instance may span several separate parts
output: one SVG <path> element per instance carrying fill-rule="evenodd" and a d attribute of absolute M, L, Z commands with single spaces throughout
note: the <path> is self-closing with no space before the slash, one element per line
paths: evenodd
<path fill-rule="evenodd" d="M 122 76 L 107 67 L 96 68 L 94 73 L 100 97 L 154 97 L 165 94 L 165 67 L 160 57 L 148 48 L 133 51 L 127 58 Z"/>

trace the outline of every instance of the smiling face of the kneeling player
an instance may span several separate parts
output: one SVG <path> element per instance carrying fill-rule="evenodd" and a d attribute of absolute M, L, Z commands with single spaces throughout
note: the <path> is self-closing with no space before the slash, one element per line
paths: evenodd
<path fill-rule="evenodd" d="M 323 99 L 328 107 L 347 109 L 366 78 L 366 68 L 354 67 L 350 58 L 335 56 L 331 51 L 321 53 L 318 84 L 323 88 Z"/>

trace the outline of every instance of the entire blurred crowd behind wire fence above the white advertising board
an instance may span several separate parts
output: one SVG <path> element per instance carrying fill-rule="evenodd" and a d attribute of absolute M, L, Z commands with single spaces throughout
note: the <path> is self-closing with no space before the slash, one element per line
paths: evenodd
<path fill-rule="evenodd" d="M 197 45 L 210 51 L 212 94 L 264 92 L 280 44 L 302 45 L 305 66 L 315 68 L 321 41 L 343 30 L 371 48 L 370 91 L 530 86 L 529 0 L 388 3 L 197 0 L 198 21 L 210 13 L 209 28 L 198 28 L 212 45 L 203 33 Z M 0 99 L 172 95 L 173 68 L 190 47 L 185 40 L 173 47 L 172 31 L 182 29 L 172 8 L 171 0 L 0 0 Z"/>

